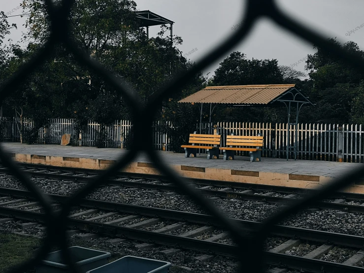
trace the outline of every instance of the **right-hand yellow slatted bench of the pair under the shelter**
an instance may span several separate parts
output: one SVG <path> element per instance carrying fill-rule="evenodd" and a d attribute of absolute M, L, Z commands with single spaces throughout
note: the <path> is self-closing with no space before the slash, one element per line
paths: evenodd
<path fill-rule="evenodd" d="M 233 160 L 235 151 L 248 151 L 250 162 L 258 162 L 261 161 L 263 136 L 226 136 L 226 146 L 220 147 L 224 152 L 224 160 L 229 160 L 230 157 Z"/>

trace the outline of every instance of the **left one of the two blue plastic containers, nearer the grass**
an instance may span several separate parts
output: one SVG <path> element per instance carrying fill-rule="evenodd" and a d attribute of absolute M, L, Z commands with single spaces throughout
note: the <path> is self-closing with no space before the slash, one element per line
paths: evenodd
<path fill-rule="evenodd" d="M 101 267 L 107 264 L 107 258 L 111 256 L 109 252 L 99 251 L 80 246 L 68 248 L 71 257 L 82 273 Z M 36 268 L 36 273 L 70 273 L 68 266 L 61 257 L 61 251 L 49 253 L 45 260 Z"/>

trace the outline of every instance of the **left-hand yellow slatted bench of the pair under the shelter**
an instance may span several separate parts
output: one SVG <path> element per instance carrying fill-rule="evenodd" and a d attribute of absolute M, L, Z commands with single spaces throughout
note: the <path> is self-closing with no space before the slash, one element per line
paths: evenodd
<path fill-rule="evenodd" d="M 185 157 L 190 157 L 191 154 L 194 157 L 197 156 L 198 149 L 206 149 L 207 159 L 212 159 L 213 156 L 219 158 L 219 146 L 221 141 L 221 135 L 201 135 L 190 134 L 189 143 L 191 145 L 182 145 L 185 148 Z"/>

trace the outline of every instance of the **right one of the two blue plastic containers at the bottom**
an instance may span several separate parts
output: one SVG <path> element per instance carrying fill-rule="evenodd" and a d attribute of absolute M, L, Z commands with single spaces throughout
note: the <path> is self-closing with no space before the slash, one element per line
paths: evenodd
<path fill-rule="evenodd" d="M 167 273 L 171 266 L 168 262 L 125 256 L 87 273 Z"/>

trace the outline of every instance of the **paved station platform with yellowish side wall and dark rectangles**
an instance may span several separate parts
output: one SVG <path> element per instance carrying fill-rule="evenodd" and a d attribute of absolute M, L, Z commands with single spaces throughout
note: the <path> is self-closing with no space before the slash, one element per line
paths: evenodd
<path fill-rule="evenodd" d="M 71 147 L 60 145 L 27 145 L 2 142 L 2 147 L 17 162 L 43 164 L 58 167 L 104 170 L 126 153 L 115 148 Z M 339 163 L 262 158 L 261 162 L 250 162 L 249 157 L 236 156 L 235 160 L 224 161 L 198 155 L 185 158 L 184 154 L 158 151 L 166 164 L 182 176 L 189 178 L 223 180 L 241 183 L 287 186 L 314 189 L 323 186 L 346 172 L 364 167 L 361 163 Z M 160 174 L 144 154 L 121 171 Z M 364 180 L 353 183 L 345 192 L 364 194 Z"/>

